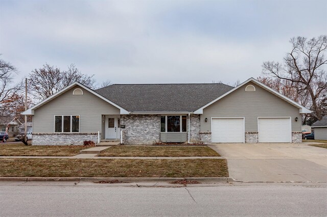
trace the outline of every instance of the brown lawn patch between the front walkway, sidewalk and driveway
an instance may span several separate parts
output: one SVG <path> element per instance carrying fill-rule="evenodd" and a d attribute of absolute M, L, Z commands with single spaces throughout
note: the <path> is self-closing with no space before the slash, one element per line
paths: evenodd
<path fill-rule="evenodd" d="M 185 157 L 220 156 L 207 146 L 113 146 L 100 152 L 98 156 L 120 157 Z"/>

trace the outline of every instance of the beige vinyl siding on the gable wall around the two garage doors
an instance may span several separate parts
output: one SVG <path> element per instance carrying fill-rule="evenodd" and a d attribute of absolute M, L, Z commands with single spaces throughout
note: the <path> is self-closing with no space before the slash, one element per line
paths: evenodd
<path fill-rule="evenodd" d="M 254 92 L 246 92 L 245 87 L 253 85 Z M 201 132 L 211 132 L 212 117 L 245 118 L 245 131 L 258 131 L 258 117 L 291 117 L 292 131 L 301 131 L 299 108 L 252 82 L 245 84 L 217 102 L 203 109 Z M 298 121 L 295 121 L 295 117 Z M 205 122 L 207 118 L 207 122 Z"/>

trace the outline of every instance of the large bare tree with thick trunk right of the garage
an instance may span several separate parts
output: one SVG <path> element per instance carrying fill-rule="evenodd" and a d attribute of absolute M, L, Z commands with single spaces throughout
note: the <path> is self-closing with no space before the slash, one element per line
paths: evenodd
<path fill-rule="evenodd" d="M 295 88 L 299 95 L 309 94 L 311 108 L 318 120 L 321 120 L 321 109 L 317 102 L 327 91 L 327 74 L 324 52 L 327 49 L 327 36 L 307 39 L 291 38 L 291 52 L 287 53 L 283 64 L 264 62 L 263 74 L 268 77 L 287 80 L 290 88 Z"/>

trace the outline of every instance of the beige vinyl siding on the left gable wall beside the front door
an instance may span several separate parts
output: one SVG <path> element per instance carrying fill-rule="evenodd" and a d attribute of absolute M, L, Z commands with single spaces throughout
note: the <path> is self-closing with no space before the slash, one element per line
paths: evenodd
<path fill-rule="evenodd" d="M 119 115 L 120 110 L 98 96 L 83 90 L 73 95 L 75 86 L 34 111 L 34 133 L 53 133 L 55 115 L 79 115 L 80 132 L 101 131 L 101 115 Z"/>

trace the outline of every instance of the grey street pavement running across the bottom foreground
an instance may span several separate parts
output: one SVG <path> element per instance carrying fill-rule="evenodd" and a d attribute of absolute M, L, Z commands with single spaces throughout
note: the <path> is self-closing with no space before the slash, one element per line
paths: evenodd
<path fill-rule="evenodd" d="M 321 184 L 0 183 L 0 216 L 326 216 Z M 127 184 L 125 184 L 127 185 Z"/>

